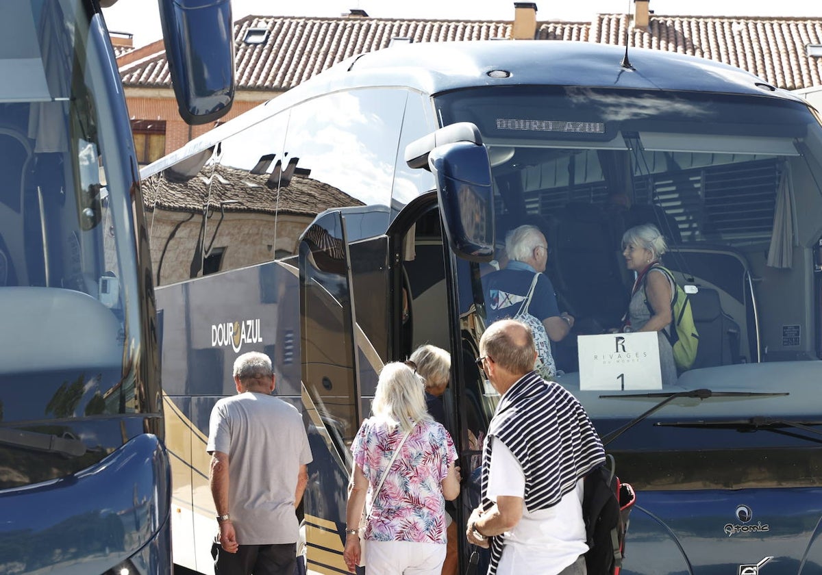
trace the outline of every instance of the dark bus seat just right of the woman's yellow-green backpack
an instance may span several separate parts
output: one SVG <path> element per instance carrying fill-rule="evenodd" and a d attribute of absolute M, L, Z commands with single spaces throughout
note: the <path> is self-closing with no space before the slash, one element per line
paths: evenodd
<path fill-rule="evenodd" d="M 689 295 L 696 331 L 700 344 L 693 369 L 725 366 L 740 362 L 739 324 L 723 312 L 719 293 L 715 289 L 700 288 Z"/>

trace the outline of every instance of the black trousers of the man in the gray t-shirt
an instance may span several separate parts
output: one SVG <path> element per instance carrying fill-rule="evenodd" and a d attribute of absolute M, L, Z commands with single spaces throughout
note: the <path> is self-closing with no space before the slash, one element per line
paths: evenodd
<path fill-rule="evenodd" d="M 240 545 L 229 553 L 222 545 L 211 546 L 215 575 L 294 575 L 297 544 Z"/>

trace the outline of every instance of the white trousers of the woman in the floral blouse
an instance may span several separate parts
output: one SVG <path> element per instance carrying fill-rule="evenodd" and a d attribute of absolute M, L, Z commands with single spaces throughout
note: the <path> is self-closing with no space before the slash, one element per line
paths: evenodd
<path fill-rule="evenodd" d="M 372 541 L 365 546 L 370 575 L 440 575 L 447 545 L 411 541 Z"/>

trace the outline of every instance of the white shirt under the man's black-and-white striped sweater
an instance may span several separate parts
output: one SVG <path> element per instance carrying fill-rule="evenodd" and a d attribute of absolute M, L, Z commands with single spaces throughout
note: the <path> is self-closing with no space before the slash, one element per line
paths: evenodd
<path fill-rule="evenodd" d="M 525 475 L 506 444 L 494 438 L 487 497 L 496 502 L 500 495 L 525 499 Z M 556 575 L 588 551 L 582 519 L 583 480 L 551 508 L 529 512 L 523 504 L 522 519 L 502 534 L 498 575 L 543 573 Z"/>

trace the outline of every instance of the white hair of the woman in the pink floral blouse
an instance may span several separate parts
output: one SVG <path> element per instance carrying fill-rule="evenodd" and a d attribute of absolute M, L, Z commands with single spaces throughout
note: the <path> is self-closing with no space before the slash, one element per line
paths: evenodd
<path fill-rule="evenodd" d="M 423 378 L 401 361 L 386 363 L 376 384 L 372 411 L 377 419 L 403 431 L 417 421 L 434 421 L 425 405 Z"/>

